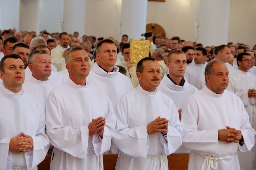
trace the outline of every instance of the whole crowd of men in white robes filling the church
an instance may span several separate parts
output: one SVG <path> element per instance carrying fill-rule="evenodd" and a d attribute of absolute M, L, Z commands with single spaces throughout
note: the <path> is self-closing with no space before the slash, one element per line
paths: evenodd
<path fill-rule="evenodd" d="M 256 45 L 0 30 L 0 169 L 256 169 Z M 144 38 L 143 38 L 144 39 Z"/>

